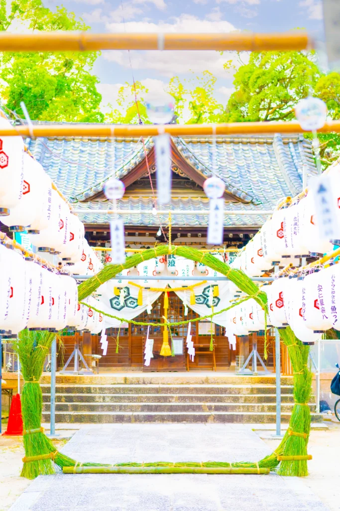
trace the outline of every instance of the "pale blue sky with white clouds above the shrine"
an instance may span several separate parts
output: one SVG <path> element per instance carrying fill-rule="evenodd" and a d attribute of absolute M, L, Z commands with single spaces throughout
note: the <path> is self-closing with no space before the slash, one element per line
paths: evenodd
<path fill-rule="evenodd" d="M 340 0 L 339 0 L 340 1 Z M 64 5 L 92 32 L 284 32 L 304 28 L 323 38 L 321 0 L 45 0 Z M 246 56 L 245 56 L 246 58 Z M 237 56 L 208 51 L 106 51 L 94 66 L 102 106 L 114 104 L 126 81 L 141 81 L 152 92 L 164 90 L 172 76 L 190 79 L 206 69 L 217 77 L 216 97 L 225 104 L 233 73 L 223 64 Z"/>

